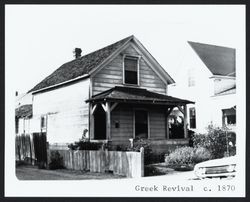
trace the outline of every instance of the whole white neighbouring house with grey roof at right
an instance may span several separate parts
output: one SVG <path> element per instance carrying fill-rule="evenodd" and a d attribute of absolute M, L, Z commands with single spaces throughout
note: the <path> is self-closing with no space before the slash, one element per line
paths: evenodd
<path fill-rule="evenodd" d="M 235 49 L 188 42 L 169 94 L 190 99 L 188 127 L 205 132 L 209 124 L 236 125 Z"/>

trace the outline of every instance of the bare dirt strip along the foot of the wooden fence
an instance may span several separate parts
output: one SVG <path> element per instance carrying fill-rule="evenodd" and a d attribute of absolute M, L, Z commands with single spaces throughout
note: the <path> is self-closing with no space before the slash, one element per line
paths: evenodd
<path fill-rule="evenodd" d="M 16 167 L 19 180 L 90 180 L 90 179 L 119 179 L 123 176 L 112 173 L 91 173 L 67 169 L 45 170 L 34 166 Z"/>

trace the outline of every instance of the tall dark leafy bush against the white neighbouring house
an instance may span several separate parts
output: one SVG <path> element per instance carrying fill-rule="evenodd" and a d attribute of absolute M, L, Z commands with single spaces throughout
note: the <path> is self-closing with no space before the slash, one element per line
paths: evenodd
<path fill-rule="evenodd" d="M 194 134 L 192 141 L 194 147 L 208 149 L 213 159 L 236 154 L 236 134 L 226 128 L 209 125 L 207 134 Z"/>

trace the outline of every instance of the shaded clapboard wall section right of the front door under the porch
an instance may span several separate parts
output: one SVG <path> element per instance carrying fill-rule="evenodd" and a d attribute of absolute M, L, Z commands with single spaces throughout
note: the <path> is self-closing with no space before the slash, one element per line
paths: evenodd
<path fill-rule="evenodd" d="M 150 138 L 165 139 L 166 137 L 166 118 L 163 111 L 151 110 L 150 114 Z"/>

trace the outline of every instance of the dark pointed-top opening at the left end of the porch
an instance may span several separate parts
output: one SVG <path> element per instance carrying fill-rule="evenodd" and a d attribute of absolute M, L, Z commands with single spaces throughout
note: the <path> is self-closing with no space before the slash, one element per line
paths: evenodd
<path fill-rule="evenodd" d="M 101 105 L 97 106 L 94 113 L 94 139 L 106 139 L 106 113 Z"/>

